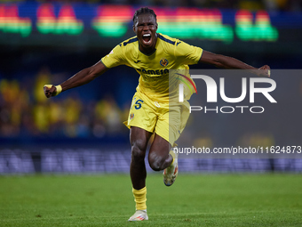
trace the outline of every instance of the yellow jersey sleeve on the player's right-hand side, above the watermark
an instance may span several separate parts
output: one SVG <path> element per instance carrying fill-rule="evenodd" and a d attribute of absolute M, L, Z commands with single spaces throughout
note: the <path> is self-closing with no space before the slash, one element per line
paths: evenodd
<path fill-rule="evenodd" d="M 203 49 L 194 45 L 188 45 L 185 42 L 179 41 L 175 46 L 175 57 L 177 61 L 181 61 L 187 65 L 194 65 L 200 61 Z"/>

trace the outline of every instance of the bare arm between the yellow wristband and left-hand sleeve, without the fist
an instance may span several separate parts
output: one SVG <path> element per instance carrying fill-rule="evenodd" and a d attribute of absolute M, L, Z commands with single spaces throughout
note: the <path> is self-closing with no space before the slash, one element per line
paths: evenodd
<path fill-rule="evenodd" d="M 101 74 L 107 71 L 107 68 L 103 63 L 99 62 L 94 66 L 83 69 L 76 73 L 73 77 L 68 78 L 67 81 L 63 82 L 61 85 L 62 92 L 76 86 L 81 86 L 88 84 L 96 77 L 99 77 Z"/>

